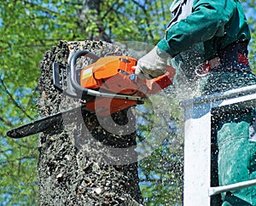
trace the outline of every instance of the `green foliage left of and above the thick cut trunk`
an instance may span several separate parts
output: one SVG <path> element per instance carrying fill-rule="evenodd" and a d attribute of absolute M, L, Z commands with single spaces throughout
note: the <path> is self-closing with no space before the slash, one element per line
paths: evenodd
<path fill-rule="evenodd" d="M 38 118 L 38 63 L 44 52 L 61 39 L 155 42 L 152 34 L 148 36 L 148 31 L 156 30 L 153 24 L 148 24 L 147 18 L 156 14 L 157 1 L 154 5 L 101 1 L 97 10 L 83 2 L 18 0 L 0 3 L 1 203 L 36 204 L 37 136 L 11 140 L 6 137 L 6 131 Z M 157 20 L 158 17 L 154 22 Z"/>

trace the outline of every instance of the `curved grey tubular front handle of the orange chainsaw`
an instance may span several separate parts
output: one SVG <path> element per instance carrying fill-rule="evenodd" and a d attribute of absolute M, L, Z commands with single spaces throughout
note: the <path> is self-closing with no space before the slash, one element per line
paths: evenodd
<path fill-rule="evenodd" d="M 91 60 L 94 60 L 94 62 L 98 59 L 100 59 L 100 56 L 91 53 L 88 50 L 81 50 L 76 53 L 74 53 L 70 59 L 70 74 L 68 76 L 69 81 L 71 83 L 71 89 L 75 91 L 77 94 L 77 97 L 86 100 L 86 94 L 88 94 L 88 89 L 84 89 L 80 86 L 79 81 L 77 80 L 77 69 L 76 69 L 76 61 L 81 56 L 88 56 Z"/>

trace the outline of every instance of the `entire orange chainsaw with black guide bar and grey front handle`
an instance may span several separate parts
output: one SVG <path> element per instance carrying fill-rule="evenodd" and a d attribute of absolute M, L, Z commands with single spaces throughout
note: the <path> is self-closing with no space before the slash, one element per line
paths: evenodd
<path fill-rule="evenodd" d="M 91 64 L 76 68 L 80 57 L 87 57 Z M 81 101 L 81 106 L 44 117 L 32 123 L 8 131 L 11 138 L 21 138 L 43 132 L 52 125 L 61 123 L 66 113 L 75 117 L 78 112 L 87 111 L 97 116 L 107 116 L 131 106 L 143 104 L 152 94 L 160 92 L 173 83 L 175 70 L 166 66 L 166 73 L 153 79 L 135 75 L 137 60 L 125 55 L 100 57 L 88 50 L 72 55 L 68 66 L 53 63 L 53 84 L 55 89 Z"/>

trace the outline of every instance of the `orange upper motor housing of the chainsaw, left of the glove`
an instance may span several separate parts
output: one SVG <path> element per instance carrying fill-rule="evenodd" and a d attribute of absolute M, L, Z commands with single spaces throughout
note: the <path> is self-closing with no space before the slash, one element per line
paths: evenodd
<path fill-rule="evenodd" d="M 130 81 L 137 60 L 127 56 L 102 57 L 80 72 L 80 84 L 86 89 L 105 89 L 113 93 L 132 94 L 137 85 Z"/>

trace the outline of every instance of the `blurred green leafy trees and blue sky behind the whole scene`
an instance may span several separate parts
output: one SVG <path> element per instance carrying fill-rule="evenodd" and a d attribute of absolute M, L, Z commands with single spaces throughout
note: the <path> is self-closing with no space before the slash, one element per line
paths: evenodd
<path fill-rule="evenodd" d="M 129 49 L 137 49 L 135 41 L 157 43 L 171 18 L 169 5 L 172 1 L 109 0 L 109 1 L 1 1 L 0 3 L 0 202 L 3 204 L 32 205 L 37 201 L 38 140 L 37 135 L 22 140 L 10 140 L 6 131 L 21 123 L 38 118 L 39 62 L 46 50 L 60 40 L 77 41 L 102 39 L 122 42 Z M 247 10 L 252 29 L 250 62 L 255 68 L 255 27 L 253 17 L 255 1 L 241 1 Z M 131 43 L 132 41 L 132 43 Z M 140 44 L 141 47 L 143 44 Z M 134 48 L 135 47 L 135 48 Z M 144 49 L 144 48 L 143 48 Z M 142 49 L 142 50 L 143 50 Z M 173 108 L 170 136 L 157 146 L 152 156 L 144 158 L 140 174 L 145 203 L 168 205 L 173 194 L 181 202 L 182 146 L 176 135 L 181 135 L 177 104 Z M 150 106 L 150 104 L 149 104 Z M 145 140 L 150 129 L 150 107 L 138 125 L 138 138 Z M 140 110 L 141 112 L 142 110 Z M 146 121 L 147 120 L 147 121 Z M 154 143 L 155 136 L 148 140 Z M 173 139 L 177 140 L 173 147 Z M 148 139 L 148 138 L 147 138 Z M 175 151 L 174 151 L 175 149 Z M 179 148 L 180 149 L 180 148 Z M 150 149 L 148 149 L 150 150 Z M 141 149 L 143 151 L 143 149 Z M 152 151 L 152 150 L 151 150 Z M 156 164 L 156 160 L 158 160 Z M 173 163 L 175 167 L 173 168 Z M 177 170 L 175 170 L 177 169 Z M 178 175 L 177 175 L 178 174 Z M 177 176 L 179 176 L 177 178 Z M 178 189 L 177 189 L 178 188 Z M 166 192 L 167 191 L 167 192 Z M 174 193 L 173 193 L 174 192 Z M 170 203 L 172 205 L 172 203 Z"/>

